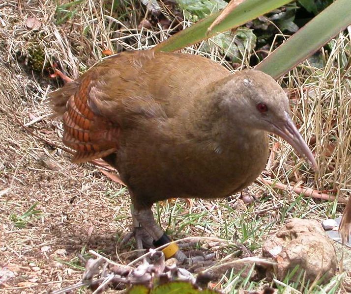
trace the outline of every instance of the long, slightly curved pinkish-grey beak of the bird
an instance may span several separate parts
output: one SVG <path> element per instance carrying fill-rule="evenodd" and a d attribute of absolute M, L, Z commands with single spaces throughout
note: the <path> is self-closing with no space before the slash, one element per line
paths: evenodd
<path fill-rule="evenodd" d="M 297 151 L 300 156 L 303 156 L 305 159 L 307 158 L 310 161 L 312 168 L 314 171 L 318 170 L 317 162 L 310 150 L 308 145 L 301 137 L 300 133 L 297 131 L 295 124 L 292 122 L 290 115 L 285 112 L 286 120 L 281 125 L 274 125 L 274 134 L 281 136 L 284 140 L 286 140 L 292 147 Z"/>

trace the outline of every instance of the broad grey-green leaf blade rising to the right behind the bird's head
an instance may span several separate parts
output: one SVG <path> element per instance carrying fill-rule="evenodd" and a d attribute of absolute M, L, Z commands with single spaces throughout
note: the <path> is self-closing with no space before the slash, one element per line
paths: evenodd
<path fill-rule="evenodd" d="M 336 0 L 266 57 L 257 70 L 278 79 L 351 24 L 351 1 Z"/>

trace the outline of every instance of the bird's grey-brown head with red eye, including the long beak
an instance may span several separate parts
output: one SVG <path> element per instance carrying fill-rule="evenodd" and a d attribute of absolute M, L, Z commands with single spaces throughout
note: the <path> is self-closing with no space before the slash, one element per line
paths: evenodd
<path fill-rule="evenodd" d="M 256 70 L 237 72 L 224 80 L 217 94 L 234 124 L 279 135 L 317 170 L 311 150 L 292 122 L 288 97 L 270 76 Z"/>

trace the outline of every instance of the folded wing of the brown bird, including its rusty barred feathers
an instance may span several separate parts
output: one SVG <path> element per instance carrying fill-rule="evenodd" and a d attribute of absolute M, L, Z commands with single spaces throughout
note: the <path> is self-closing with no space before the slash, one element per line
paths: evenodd
<path fill-rule="evenodd" d="M 56 115 L 63 118 L 63 143 L 76 150 L 73 162 L 108 156 L 119 148 L 121 128 L 138 117 L 165 116 L 145 91 L 142 62 L 150 53 L 121 53 L 91 68 L 78 80 L 51 94 Z"/>

